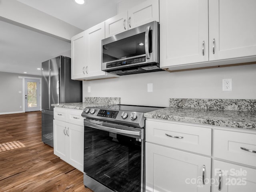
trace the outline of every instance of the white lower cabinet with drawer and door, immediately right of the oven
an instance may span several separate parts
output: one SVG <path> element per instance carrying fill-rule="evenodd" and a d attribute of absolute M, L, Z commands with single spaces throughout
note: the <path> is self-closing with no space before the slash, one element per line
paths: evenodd
<path fill-rule="evenodd" d="M 212 130 L 206 127 L 146 120 L 146 192 L 210 192 Z"/>

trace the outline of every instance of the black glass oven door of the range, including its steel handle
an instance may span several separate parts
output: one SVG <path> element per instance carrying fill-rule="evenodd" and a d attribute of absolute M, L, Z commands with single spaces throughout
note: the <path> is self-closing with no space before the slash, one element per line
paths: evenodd
<path fill-rule="evenodd" d="M 111 191 L 142 192 L 144 131 L 120 128 L 84 120 L 84 173 Z M 84 182 L 92 190 L 99 188 Z"/>

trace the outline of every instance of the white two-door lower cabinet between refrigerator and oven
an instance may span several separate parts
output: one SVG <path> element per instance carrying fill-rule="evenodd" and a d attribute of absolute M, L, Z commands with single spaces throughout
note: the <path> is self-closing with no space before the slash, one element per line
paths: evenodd
<path fill-rule="evenodd" d="M 54 108 L 55 109 L 55 108 Z M 78 114 L 80 110 L 68 110 L 69 117 Z M 80 111 L 82 113 L 82 110 Z M 80 113 L 80 114 L 81 114 Z M 77 115 L 78 116 L 78 115 Z M 74 117 L 73 117 L 74 118 Z M 78 118 L 78 117 L 75 117 Z M 83 119 L 81 116 L 79 117 Z M 72 119 L 70 119 L 72 120 Z M 75 119 L 77 120 L 77 119 Z M 69 119 L 68 119 L 69 121 Z M 84 126 L 81 121 L 74 122 L 53 120 L 54 154 L 81 172 L 84 169 Z"/>

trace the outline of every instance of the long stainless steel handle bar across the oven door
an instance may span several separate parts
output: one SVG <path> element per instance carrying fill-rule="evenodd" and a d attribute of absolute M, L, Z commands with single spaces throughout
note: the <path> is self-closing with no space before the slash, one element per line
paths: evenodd
<path fill-rule="evenodd" d="M 141 131 L 129 131 L 129 130 L 124 130 L 124 129 L 105 127 L 105 126 L 102 126 L 102 125 L 99 125 L 99 124 L 96 124 L 96 123 L 91 123 L 89 121 L 84 121 L 84 123 L 85 123 L 85 126 L 95 128 L 95 129 L 100 129 L 100 130 L 103 130 L 103 131 L 141 136 Z"/>

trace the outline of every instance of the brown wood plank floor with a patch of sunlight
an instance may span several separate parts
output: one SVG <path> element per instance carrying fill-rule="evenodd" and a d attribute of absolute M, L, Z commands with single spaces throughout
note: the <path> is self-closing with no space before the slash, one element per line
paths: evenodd
<path fill-rule="evenodd" d="M 0 115 L 0 192 L 92 192 L 41 141 L 41 112 Z"/>

